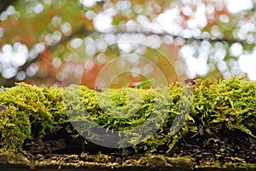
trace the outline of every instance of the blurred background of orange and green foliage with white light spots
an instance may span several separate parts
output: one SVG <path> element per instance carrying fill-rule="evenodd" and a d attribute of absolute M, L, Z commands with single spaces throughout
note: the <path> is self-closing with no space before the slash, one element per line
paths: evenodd
<path fill-rule="evenodd" d="M 254 0 L 0 0 L 0 84 L 256 80 L 255 35 Z"/>

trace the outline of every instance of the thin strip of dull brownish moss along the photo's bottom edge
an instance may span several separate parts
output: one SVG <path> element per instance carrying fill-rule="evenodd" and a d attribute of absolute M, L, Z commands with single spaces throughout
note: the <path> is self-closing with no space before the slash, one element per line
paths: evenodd
<path fill-rule="evenodd" d="M 101 154 L 102 156 L 102 154 Z M 103 155 L 107 157 L 107 155 Z M 4 166 L 19 167 L 19 168 L 126 168 L 126 169 L 142 169 L 142 168 L 163 168 L 163 170 L 169 169 L 210 169 L 210 170 L 254 170 L 256 168 L 255 163 L 245 163 L 242 159 L 234 157 L 232 162 L 219 163 L 218 161 L 205 161 L 200 165 L 195 164 L 195 158 L 185 157 L 166 157 L 164 155 L 145 155 L 137 159 L 126 158 L 122 162 L 95 162 L 99 156 L 89 156 L 89 161 L 84 161 L 79 158 L 78 155 L 40 155 L 39 158 L 24 157 L 22 154 L 0 153 L 0 168 L 4 169 Z M 102 157 L 101 157 L 102 158 Z M 241 162 L 237 162 L 241 161 Z"/>

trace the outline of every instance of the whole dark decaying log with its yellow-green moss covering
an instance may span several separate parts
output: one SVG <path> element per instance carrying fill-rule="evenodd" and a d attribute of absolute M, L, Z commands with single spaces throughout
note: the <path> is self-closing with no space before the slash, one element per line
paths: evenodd
<path fill-rule="evenodd" d="M 167 89 L 167 100 L 162 89 Z M 132 93 L 134 90 L 137 94 Z M 189 101 L 189 111 L 180 107 L 184 101 Z M 101 155 L 108 155 L 102 157 L 102 167 L 124 167 L 124 163 L 173 167 L 170 158 L 190 157 L 193 164 L 189 162 L 187 168 L 256 168 L 256 82 L 243 77 L 198 79 L 171 83 L 167 88 L 102 88 L 100 92 L 79 85 L 47 88 L 17 83 L 13 88 L 3 88 L 0 104 L 0 152 L 3 157 L 7 153 L 22 154 L 31 166 L 41 159 L 40 163 L 49 163 L 44 155 L 76 153 L 70 161 L 83 164 L 102 164 Z M 160 118 L 159 110 L 166 112 L 159 130 L 143 140 L 139 136 L 126 140 L 131 144 L 127 148 L 96 145 L 81 136 L 72 123 L 90 120 L 109 132 L 126 130 L 150 120 L 152 114 Z M 78 115 L 84 111 L 87 115 Z M 183 121 L 182 127 L 172 134 L 171 127 L 178 125 L 173 124 L 175 118 L 184 112 L 185 117 L 178 120 Z M 102 134 L 93 136 L 104 139 Z M 86 159 L 81 157 L 84 153 Z M 166 158 L 158 160 L 162 157 Z M 55 159 L 50 157 L 58 161 Z M 59 159 L 63 162 L 63 157 Z M 68 162 L 64 161 L 62 165 Z M 152 164 L 154 161 L 158 162 Z"/>

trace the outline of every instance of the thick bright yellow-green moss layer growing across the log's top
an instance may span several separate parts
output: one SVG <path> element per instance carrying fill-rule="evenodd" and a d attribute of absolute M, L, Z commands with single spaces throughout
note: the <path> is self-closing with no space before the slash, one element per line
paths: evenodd
<path fill-rule="evenodd" d="M 191 132 L 197 134 L 201 129 L 207 129 L 209 125 L 217 123 L 224 124 L 224 127 L 229 130 L 240 130 L 252 138 L 256 137 L 255 82 L 248 82 L 243 77 L 232 77 L 218 81 L 192 79 L 187 83 L 190 88 L 193 88 L 193 99 L 189 113 L 185 117 L 180 117 L 184 119 L 182 128 L 176 134 L 171 133 L 171 126 L 175 126 L 174 118 L 181 115 L 178 112 L 181 87 L 178 86 L 179 83 L 170 83 L 168 87 L 169 106 L 166 106 L 165 121 L 155 134 L 147 137 L 139 145 L 137 139 L 130 140 L 129 143 L 134 149 L 146 145 L 150 151 L 158 151 L 162 146 L 168 146 L 165 151 L 168 153 L 186 134 Z M 73 96 L 76 92 L 73 92 L 74 94 L 65 94 L 64 105 L 63 92 L 72 92 L 70 89 L 78 87 L 79 100 L 82 103 L 77 105 L 73 103 L 76 98 Z M 145 123 L 152 113 L 156 117 L 161 117 L 157 116 L 161 114 L 160 112 L 154 111 L 157 88 L 137 89 L 140 94 L 137 111 L 133 110 L 134 105 L 137 104 L 137 96 L 132 97 L 130 94 L 134 88 L 95 91 L 83 85 L 47 88 L 17 83 L 13 88 L 3 89 L 4 91 L 0 92 L 0 104 L 5 106 L 0 112 L 1 151 L 26 152 L 22 149 L 26 140 L 44 140 L 49 134 L 58 133 L 61 129 L 66 129 L 68 134 L 78 137 L 78 132 L 73 128 L 70 118 L 67 117 L 68 111 L 76 111 L 72 117 L 75 122 L 90 120 L 109 132 L 136 128 Z M 104 96 L 104 92 L 108 92 L 112 105 L 117 106 L 118 109 L 125 108 L 128 117 L 120 117 L 122 113 L 119 113 L 116 108 L 108 107 L 107 101 L 106 108 L 102 109 L 97 95 Z M 77 115 L 79 112 L 84 112 L 84 108 L 89 115 Z M 117 117 L 113 116 L 113 112 Z M 132 115 L 129 115 L 129 112 Z M 137 135 L 138 139 L 139 136 Z"/>

